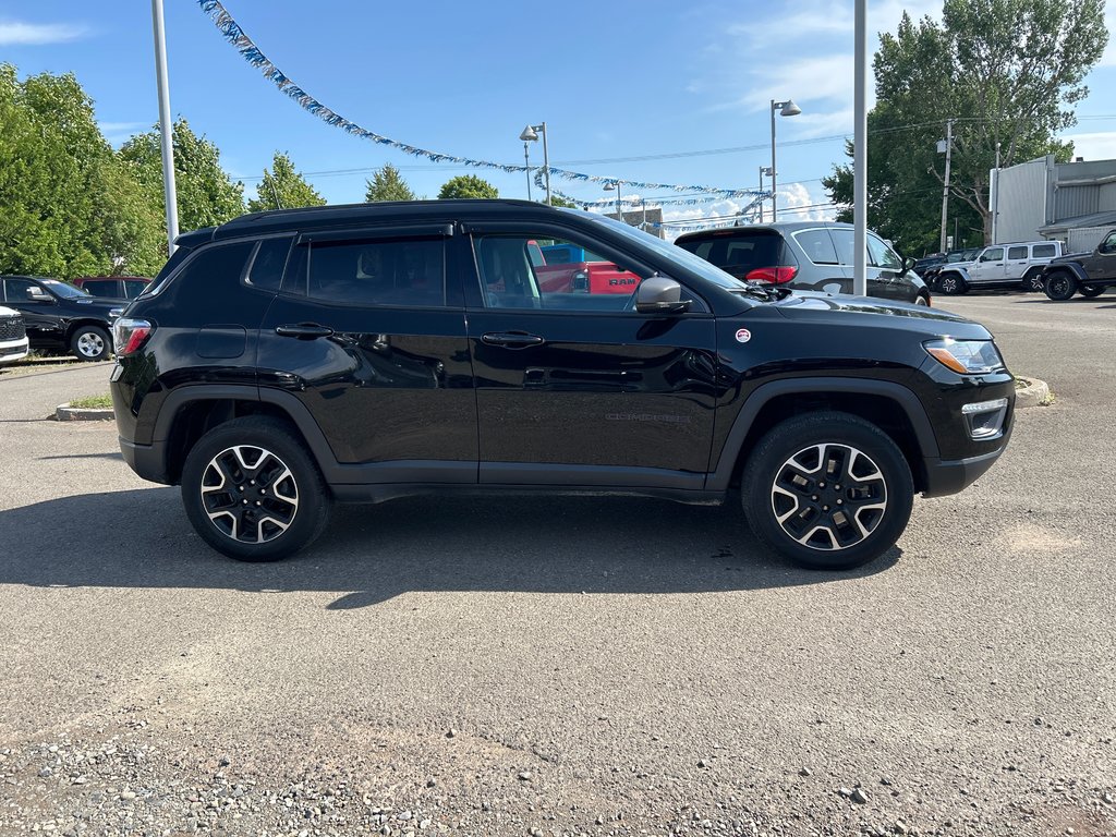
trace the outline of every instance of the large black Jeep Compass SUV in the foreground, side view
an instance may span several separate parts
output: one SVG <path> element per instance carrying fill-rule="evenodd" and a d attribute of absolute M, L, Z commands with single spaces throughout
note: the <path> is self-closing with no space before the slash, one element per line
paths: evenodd
<path fill-rule="evenodd" d="M 538 241 L 641 282 L 543 290 Z M 895 543 L 916 491 L 988 470 L 1012 427 L 1014 382 L 982 326 L 743 282 L 599 214 L 321 206 L 177 243 L 115 326 L 121 450 L 242 560 L 306 547 L 333 501 L 720 503 L 739 488 L 777 551 L 852 567 Z"/>

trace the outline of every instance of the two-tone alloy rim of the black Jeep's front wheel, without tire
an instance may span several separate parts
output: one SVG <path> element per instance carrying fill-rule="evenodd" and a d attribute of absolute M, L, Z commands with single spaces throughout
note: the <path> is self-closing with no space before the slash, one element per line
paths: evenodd
<path fill-rule="evenodd" d="M 852 445 L 810 445 L 779 468 L 771 509 L 783 532 L 802 546 L 848 549 L 883 521 L 887 483 L 872 458 Z"/>

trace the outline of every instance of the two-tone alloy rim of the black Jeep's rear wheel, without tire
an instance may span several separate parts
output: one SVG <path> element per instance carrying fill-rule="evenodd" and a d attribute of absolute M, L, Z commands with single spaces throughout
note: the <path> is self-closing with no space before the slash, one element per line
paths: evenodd
<path fill-rule="evenodd" d="M 298 484 L 275 453 L 254 445 L 227 448 L 202 475 L 202 508 L 227 537 L 266 543 L 280 537 L 298 513 Z"/>

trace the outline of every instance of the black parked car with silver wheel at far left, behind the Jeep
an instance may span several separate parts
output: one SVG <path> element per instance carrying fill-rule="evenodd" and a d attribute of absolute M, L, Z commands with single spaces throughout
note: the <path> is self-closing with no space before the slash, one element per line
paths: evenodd
<path fill-rule="evenodd" d="M 0 277 L 3 305 L 23 315 L 32 349 L 68 352 L 78 360 L 105 360 L 113 350 L 113 320 L 124 299 L 98 299 L 58 279 Z"/>

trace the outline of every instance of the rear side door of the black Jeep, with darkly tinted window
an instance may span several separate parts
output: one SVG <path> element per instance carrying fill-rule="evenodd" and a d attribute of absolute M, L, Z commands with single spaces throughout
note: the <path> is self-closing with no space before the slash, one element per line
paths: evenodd
<path fill-rule="evenodd" d="M 261 386 L 314 415 L 354 481 L 477 481 L 449 224 L 302 234 L 260 328 Z"/>

